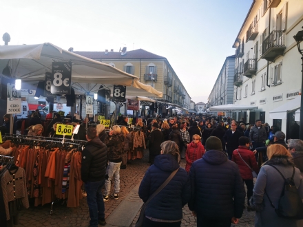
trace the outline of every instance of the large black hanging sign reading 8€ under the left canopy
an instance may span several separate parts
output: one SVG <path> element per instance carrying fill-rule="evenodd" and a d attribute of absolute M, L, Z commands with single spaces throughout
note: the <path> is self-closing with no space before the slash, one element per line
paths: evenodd
<path fill-rule="evenodd" d="M 72 65 L 69 62 L 52 63 L 50 92 L 52 94 L 70 94 Z"/>

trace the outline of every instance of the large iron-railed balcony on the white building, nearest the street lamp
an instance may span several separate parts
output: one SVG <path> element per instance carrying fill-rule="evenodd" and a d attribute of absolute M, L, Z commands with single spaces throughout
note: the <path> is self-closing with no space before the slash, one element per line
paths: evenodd
<path fill-rule="evenodd" d="M 275 58 L 284 54 L 285 48 L 284 32 L 272 31 L 262 43 L 261 58 L 267 61 L 274 61 Z"/>

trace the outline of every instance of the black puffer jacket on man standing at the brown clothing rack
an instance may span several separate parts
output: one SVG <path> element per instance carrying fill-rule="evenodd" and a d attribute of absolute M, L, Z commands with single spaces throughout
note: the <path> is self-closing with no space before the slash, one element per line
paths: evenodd
<path fill-rule="evenodd" d="M 107 147 L 96 136 L 85 144 L 82 151 L 81 179 L 83 182 L 98 182 L 105 178 Z"/>

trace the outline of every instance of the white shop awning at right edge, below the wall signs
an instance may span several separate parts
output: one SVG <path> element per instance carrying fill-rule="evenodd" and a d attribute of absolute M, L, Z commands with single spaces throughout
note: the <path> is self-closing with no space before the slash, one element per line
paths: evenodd
<path fill-rule="evenodd" d="M 289 112 L 295 111 L 296 109 L 300 108 L 301 106 L 300 102 L 301 102 L 301 96 L 297 96 L 297 98 L 289 100 L 288 102 L 284 103 L 284 105 L 280 105 L 280 107 L 277 107 L 272 111 L 269 111 L 269 118 L 286 119 L 287 114 Z"/>

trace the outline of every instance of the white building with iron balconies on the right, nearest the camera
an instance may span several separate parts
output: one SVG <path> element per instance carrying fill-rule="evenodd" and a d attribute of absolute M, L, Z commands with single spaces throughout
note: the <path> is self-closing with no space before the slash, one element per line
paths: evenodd
<path fill-rule="evenodd" d="M 295 110 L 291 99 L 300 94 L 301 55 L 293 36 L 303 26 L 302 0 L 253 1 L 233 47 L 233 78 L 237 105 L 256 105 L 257 111 L 236 114 L 247 122 L 256 119 L 289 133 Z M 303 45 L 303 43 L 302 43 Z M 300 98 L 299 98 L 300 99 Z M 280 107 L 280 111 L 275 111 Z M 271 113 L 270 112 L 275 112 Z"/>

